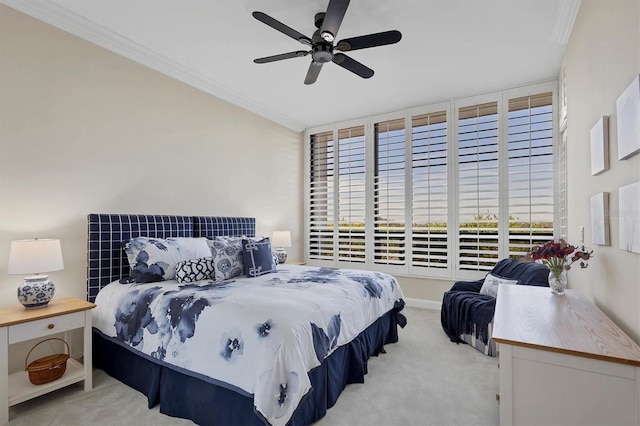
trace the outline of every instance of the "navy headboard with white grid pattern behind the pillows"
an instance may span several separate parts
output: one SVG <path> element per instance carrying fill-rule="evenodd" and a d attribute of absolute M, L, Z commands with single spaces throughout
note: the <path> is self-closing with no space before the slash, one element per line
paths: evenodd
<path fill-rule="evenodd" d="M 87 241 L 87 300 L 110 282 L 129 275 L 122 242 L 134 237 L 255 236 L 250 217 L 89 214 Z"/>

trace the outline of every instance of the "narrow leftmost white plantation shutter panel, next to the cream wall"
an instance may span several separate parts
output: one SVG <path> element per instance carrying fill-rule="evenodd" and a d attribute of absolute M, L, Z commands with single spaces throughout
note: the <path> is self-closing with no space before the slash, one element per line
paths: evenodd
<path fill-rule="evenodd" d="M 309 258 L 333 260 L 335 151 L 333 132 L 311 135 Z"/>

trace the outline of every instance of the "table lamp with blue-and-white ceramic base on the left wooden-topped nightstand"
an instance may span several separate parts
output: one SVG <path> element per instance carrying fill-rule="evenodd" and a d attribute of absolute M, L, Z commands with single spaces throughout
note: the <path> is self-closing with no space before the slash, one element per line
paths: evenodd
<path fill-rule="evenodd" d="M 55 286 L 42 272 L 64 269 L 60 240 L 30 239 L 11 242 L 9 267 L 12 275 L 31 274 L 18 286 L 18 300 L 26 309 L 43 308 L 53 298 Z"/>

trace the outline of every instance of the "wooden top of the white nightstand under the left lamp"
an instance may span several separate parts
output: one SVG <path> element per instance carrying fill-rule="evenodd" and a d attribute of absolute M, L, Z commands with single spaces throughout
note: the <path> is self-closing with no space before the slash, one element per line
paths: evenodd
<path fill-rule="evenodd" d="M 22 305 L 0 308 L 0 327 L 93 309 L 96 305 L 76 297 L 53 299 L 44 308 L 25 309 Z"/>

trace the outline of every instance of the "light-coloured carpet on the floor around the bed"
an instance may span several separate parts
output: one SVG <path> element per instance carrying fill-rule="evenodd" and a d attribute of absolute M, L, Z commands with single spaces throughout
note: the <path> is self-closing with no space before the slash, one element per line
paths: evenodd
<path fill-rule="evenodd" d="M 364 384 L 347 386 L 317 426 L 497 425 L 496 358 L 451 343 L 440 312 L 407 308 L 409 324 L 386 354 L 369 360 Z M 191 421 L 147 408 L 141 393 L 101 370 L 82 384 L 13 406 L 10 425 L 180 425 Z"/>

